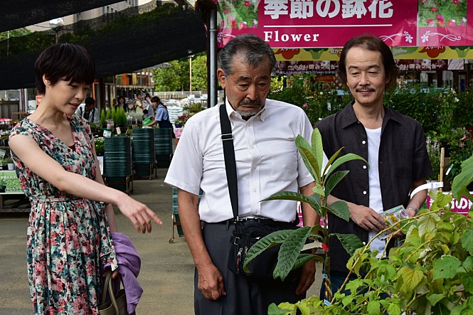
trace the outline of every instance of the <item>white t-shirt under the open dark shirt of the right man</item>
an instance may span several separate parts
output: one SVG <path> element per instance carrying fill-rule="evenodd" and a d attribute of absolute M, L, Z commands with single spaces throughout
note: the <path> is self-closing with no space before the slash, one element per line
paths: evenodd
<path fill-rule="evenodd" d="M 365 128 L 365 130 L 366 135 L 368 136 L 368 164 L 370 165 L 370 169 L 368 171 L 370 183 L 369 208 L 375 210 L 377 213 L 381 213 L 383 212 L 383 199 L 381 197 L 381 184 L 379 181 L 378 169 L 378 152 L 379 144 L 381 142 L 381 127 L 378 129 Z M 376 234 L 378 233 L 370 231 L 368 233 L 368 240 L 371 240 Z M 386 241 L 380 240 L 379 237 L 371 242 L 371 250 L 378 250 L 378 252 L 380 252 L 378 257 L 381 256 L 381 252 L 383 252 L 385 246 Z"/>

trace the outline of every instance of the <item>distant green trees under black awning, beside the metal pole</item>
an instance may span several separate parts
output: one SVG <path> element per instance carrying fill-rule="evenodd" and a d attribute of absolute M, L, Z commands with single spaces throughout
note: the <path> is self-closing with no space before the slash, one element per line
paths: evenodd
<path fill-rule="evenodd" d="M 170 61 L 169 65 L 167 68 L 154 69 L 154 90 L 188 91 L 189 58 Z M 198 53 L 192 58 L 192 90 L 207 90 L 206 53 Z"/>

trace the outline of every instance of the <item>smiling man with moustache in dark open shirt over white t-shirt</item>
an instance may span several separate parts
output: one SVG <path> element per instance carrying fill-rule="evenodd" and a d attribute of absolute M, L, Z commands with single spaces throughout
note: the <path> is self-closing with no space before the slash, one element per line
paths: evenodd
<path fill-rule="evenodd" d="M 427 191 L 410 192 L 432 174 L 422 126 L 414 119 L 383 105 L 383 92 L 396 83 L 398 68 L 390 48 L 377 36 L 351 38 L 341 51 L 339 77 L 354 100 L 340 112 L 318 122 L 326 156 L 340 148 L 368 161 L 350 161 L 339 171 L 350 171 L 328 198 L 349 205 L 350 220 L 329 213 L 329 233 L 348 233 L 368 242 L 386 228 L 380 213 L 404 205 L 410 216 L 418 213 Z M 393 246 L 394 240 L 388 244 Z M 371 249 L 383 252 L 385 240 L 376 238 Z M 337 237 L 331 237 L 330 280 L 335 293 L 349 274 L 350 255 Z M 322 285 L 321 299 L 325 288 Z"/>

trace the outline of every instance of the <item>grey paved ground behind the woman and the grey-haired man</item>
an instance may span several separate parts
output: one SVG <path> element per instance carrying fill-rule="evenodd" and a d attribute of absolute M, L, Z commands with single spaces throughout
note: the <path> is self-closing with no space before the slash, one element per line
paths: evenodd
<path fill-rule="evenodd" d="M 134 181 L 134 198 L 155 210 L 163 225 L 154 225 L 151 234 L 137 233 L 119 211 L 120 232 L 127 234 L 142 257 L 139 282 L 144 289 L 137 314 L 193 314 L 193 261 L 185 237 L 169 243 L 173 225 L 172 191 L 164 181 L 166 169 L 158 170 L 158 178 Z M 0 315 L 32 314 L 26 275 L 26 213 L 0 213 Z M 319 267 L 317 269 L 320 269 Z M 309 289 L 318 294 L 320 274 Z"/>

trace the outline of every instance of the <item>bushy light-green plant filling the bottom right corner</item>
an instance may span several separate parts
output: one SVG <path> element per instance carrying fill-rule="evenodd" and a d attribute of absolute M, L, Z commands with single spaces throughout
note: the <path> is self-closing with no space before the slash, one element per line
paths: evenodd
<path fill-rule="evenodd" d="M 462 163 L 452 183 L 459 200 L 473 197 L 473 156 Z M 272 304 L 268 314 L 472 314 L 473 211 L 450 211 L 451 195 L 430 191 L 429 210 L 400 221 L 405 241 L 378 259 L 369 243 L 355 250 L 347 267 L 358 277 L 346 281 L 349 294 L 336 292 L 330 305 L 318 297 L 296 304 Z"/>

